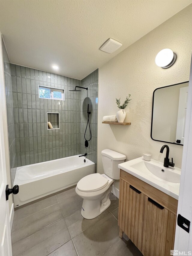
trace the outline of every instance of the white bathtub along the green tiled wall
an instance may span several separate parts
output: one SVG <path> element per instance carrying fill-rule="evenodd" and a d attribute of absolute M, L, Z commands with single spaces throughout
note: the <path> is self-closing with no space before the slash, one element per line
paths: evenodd
<path fill-rule="evenodd" d="M 94 172 L 95 164 L 79 155 L 17 167 L 13 185 L 19 185 L 19 193 L 13 195 L 14 206 L 76 185 L 80 179 Z"/>

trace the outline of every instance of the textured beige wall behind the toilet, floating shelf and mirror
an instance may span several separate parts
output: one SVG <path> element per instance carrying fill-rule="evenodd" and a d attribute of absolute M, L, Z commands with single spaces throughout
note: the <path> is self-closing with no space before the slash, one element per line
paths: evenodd
<path fill-rule="evenodd" d="M 103 173 L 101 151 L 106 148 L 125 154 L 127 160 L 148 152 L 153 159 L 164 161 L 165 152 L 161 154 L 159 151 L 165 143 L 150 137 L 152 95 L 158 87 L 189 80 L 191 24 L 192 5 L 189 5 L 99 68 L 99 173 Z M 155 56 L 164 48 L 177 54 L 175 64 L 168 69 L 155 64 Z M 125 109 L 125 121 L 130 121 L 131 125 L 102 124 L 103 116 L 118 111 L 115 98 L 121 97 L 124 101 L 129 93 L 132 100 Z M 181 167 L 183 146 L 168 145 L 170 158 L 173 157 L 176 166 Z"/>

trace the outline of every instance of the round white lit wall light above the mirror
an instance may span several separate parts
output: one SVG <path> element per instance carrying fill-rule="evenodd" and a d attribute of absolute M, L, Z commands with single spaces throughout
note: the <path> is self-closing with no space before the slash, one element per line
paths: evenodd
<path fill-rule="evenodd" d="M 176 57 L 176 53 L 171 49 L 166 48 L 157 54 L 155 63 L 161 68 L 169 68 L 176 61 Z"/>

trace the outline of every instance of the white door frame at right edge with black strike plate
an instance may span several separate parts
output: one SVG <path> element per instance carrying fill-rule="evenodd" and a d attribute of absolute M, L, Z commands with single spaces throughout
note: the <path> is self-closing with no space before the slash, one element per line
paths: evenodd
<path fill-rule="evenodd" d="M 187 101 L 177 217 L 180 214 L 186 220 L 190 221 L 190 228 L 187 230 L 188 232 L 185 230 L 189 227 L 188 222 L 185 224 L 186 221 L 182 227 L 178 223 L 176 224 L 174 255 L 192 255 L 192 62 Z"/>

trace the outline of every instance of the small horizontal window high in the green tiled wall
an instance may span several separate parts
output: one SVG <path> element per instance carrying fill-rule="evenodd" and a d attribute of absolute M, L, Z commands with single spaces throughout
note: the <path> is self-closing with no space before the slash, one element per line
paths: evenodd
<path fill-rule="evenodd" d="M 64 90 L 39 85 L 39 98 L 64 101 Z"/>

